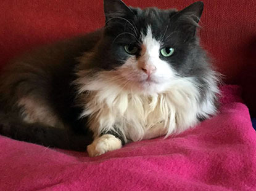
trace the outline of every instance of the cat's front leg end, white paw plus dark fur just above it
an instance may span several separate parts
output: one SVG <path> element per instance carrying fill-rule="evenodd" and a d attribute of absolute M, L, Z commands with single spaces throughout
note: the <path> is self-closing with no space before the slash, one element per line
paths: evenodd
<path fill-rule="evenodd" d="M 125 138 L 122 133 L 110 130 L 95 138 L 93 143 L 87 146 L 87 152 L 89 157 L 96 157 L 105 152 L 120 149 L 124 144 Z"/>

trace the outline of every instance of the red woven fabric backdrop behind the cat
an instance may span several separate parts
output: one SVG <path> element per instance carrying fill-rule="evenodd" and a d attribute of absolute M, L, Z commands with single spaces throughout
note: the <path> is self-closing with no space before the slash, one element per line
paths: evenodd
<path fill-rule="evenodd" d="M 125 0 L 138 7 L 182 9 L 192 0 Z M 200 36 L 225 82 L 241 84 L 256 109 L 256 1 L 204 0 Z M 0 65 L 39 44 L 93 31 L 104 25 L 103 0 L 1 0 Z"/>

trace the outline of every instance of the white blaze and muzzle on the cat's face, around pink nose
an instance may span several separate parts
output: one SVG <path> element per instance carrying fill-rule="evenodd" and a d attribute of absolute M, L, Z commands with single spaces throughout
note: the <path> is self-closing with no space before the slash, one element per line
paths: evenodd
<path fill-rule="evenodd" d="M 161 42 L 153 37 L 150 26 L 147 28 L 146 36 L 144 34 L 141 36 L 140 57 L 138 59 L 135 56 L 128 58 L 120 67 L 121 75 L 133 84 L 133 92 L 146 95 L 165 92 L 169 82 L 176 77 L 175 71 L 169 63 L 160 59 Z M 154 72 L 150 74 L 150 80 L 147 80 L 149 76 L 142 70 L 143 68 L 154 69 Z"/>

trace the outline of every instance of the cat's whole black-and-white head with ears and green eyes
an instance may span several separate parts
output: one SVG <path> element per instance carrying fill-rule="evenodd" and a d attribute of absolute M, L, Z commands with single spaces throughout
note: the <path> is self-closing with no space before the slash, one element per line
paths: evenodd
<path fill-rule="evenodd" d="M 196 29 L 203 7 L 195 2 L 180 11 L 139 9 L 105 0 L 104 36 L 96 50 L 100 68 L 111 82 L 149 94 L 192 76 L 201 51 Z"/>

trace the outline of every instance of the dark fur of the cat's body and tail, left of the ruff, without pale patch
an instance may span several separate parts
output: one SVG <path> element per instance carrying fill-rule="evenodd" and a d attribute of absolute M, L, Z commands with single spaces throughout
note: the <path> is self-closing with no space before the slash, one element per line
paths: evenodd
<path fill-rule="evenodd" d="M 45 45 L 17 58 L 2 71 L 0 95 L 0 133 L 22 141 L 65 149 L 86 148 L 91 134 L 83 136 L 80 109 L 74 106 L 75 90 L 70 85 L 75 79 L 72 72 L 81 53 L 87 52 L 99 41 L 102 30 L 78 36 L 70 40 Z M 20 119 L 20 110 L 15 103 L 21 95 L 33 93 L 36 99 L 47 99 L 59 117 L 78 133 L 68 128 L 52 128 L 42 124 L 26 124 Z M 62 126 L 63 124 L 61 124 Z M 71 134 L 70 134 L 71 133 Z M 71 137 L 68 137 L 71 136 Z"/>

